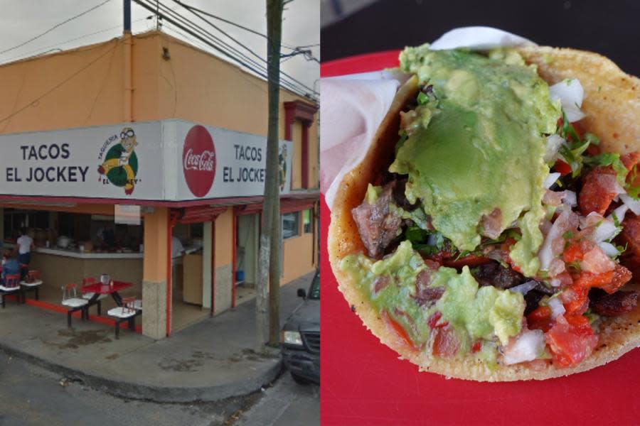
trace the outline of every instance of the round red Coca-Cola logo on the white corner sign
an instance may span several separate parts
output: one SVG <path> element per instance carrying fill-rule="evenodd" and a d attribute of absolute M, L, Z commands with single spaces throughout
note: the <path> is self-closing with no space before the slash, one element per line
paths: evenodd
<path fill-rule="evenodd" d="M 204 197 L 208 194 L 215 178 L 215 146 L 203 126 L 193 126 L 184 138 L 182 170 L 193 195 Z"/>

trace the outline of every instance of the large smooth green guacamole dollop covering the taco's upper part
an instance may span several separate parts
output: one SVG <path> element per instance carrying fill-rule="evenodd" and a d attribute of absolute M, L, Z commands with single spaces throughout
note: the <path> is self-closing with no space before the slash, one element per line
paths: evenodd
<path fill-rule="evenodd" d="M 486 57 L 422 45 L 406 48 L 400 67 L 432 84 L 437 97 L 421 109 L 428 125 L 412 130 L 390 167 L 409 175 L 407 200 L 420 200 L 434 228 L 461 251 L 476 249 L 483 218 L 499 209 L 501 231 L 521 229 L 512 260 L 535 275 L 549 173 L 543 133 L 554 133 L 560 117 L 548 85 L 512 50 Z"/>

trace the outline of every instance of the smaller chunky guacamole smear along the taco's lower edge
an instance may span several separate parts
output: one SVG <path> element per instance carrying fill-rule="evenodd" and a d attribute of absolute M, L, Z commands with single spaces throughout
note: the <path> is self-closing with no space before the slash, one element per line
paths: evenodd
<path fill-rule="evenodd" d="M 427 266 L 409 241 L 402 241 L 392 255 L 380 261 L 362 253 L 348 255 L 340 268 L 351 276 L 375 310 L 387 312 L 402 325 L 416 347 L 429 341 L 431 330 L 427 323 L 434 312 L 440 312 L 442 321 L 449 322 L 462 339 L 459 354 L 468 352 L 476 339 L 491 341 L 498 337 L 501 344 L 506 344 L 509 337 L 520 332 L 523 296 L 491 286 L 479 288 L 467 266 L 462 273 L 453 268 L 439 268 L 432 273 L 429 286 L 443 288 L 444 293 L 433 305 L 420 305 L 415 299 L 415 283 Z M 487 348 L 495 351 L 496 346 L 484 344 L 485 357 Z"/>

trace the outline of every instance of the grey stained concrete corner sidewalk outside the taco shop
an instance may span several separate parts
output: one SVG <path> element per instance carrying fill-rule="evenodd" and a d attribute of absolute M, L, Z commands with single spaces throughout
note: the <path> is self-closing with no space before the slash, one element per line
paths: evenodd
<path fill-rule="evenodd" d="M 282 287 L 282 322 L 302 300 L 313 274 Z M 88 386 L 126 398 L 186 403 L 257 391 L 279 373 L 279 351 L 256 354 L 255 302 L 154 341 L 122 329 L 9 301 L 0 309 L 0 350 Z"/>

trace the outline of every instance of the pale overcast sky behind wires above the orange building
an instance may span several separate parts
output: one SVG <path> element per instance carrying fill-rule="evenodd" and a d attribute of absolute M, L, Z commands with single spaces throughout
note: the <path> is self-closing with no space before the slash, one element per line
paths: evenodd
<path fill-rule="evenodd" d="M 30 43 L 12 49 L 36 35 L 44 33 L 53 26 L 77 15 L 104 1 L 106 4 L 86 13 L 79 18 L 53 29 L 46 35 Z M 161 0 L 163 4 L 184 17 L 188 17 L 208 29 L 210 33 L 218 35 L 226 42 L 233 42 L 225 35 L 218 33 L 208 24 L 199 21 L 196 16 L 186 11 L 173 0 Z M 267 33 L 266 0 L 182 0 L 188 6 L 194 6 L 228 21 L 233 21 L 262 34 Z M 58 52 L 58 49 L 68 50 L 81 45 L 89 45 L 100 41 L 110 40 L 122 35 L 122 0 L 0 0 L 0 64 L 12 62 L 20 58 L 43 53 Z M 152 13 L 139 6 L 132 0 L 132 32 L 142 33 L 156 28 L 155 18 L 147 19 Z M 251 48 L 262 58 L 267 58 L 267 40 L 260 35 L 237 28 L 228 23 L 212 20 L 216 26 L 232 35 L 240 43 Z M 180 34 L 177 28 L 164 23 L 162 31 L 181 38 L 198 48 L 214 50 L 186 33 Z M 313 45 L 311 53 L 320 58 L 320 2 L 318 0 L 293 0 L 283 13 L 282 23 L 283 45 L 306 46 Z M 235 48 L 239 45 L 233 44 Z M 290 53 L 287 48 L 282 53 Z M 246 51 L 243 53 L 250 55 Z M 214 53 L 218 55 L 218 53 Z M 251 57 L 255 60 L 257 58 Z M 303 55 L 284 60 L 281 70 L 302 82 L 306 87 L 318 90 L 317 80 L 320 76 L 319 63 L 306 60 Z M 304 89 L 309 92 L 308 89 Z"/>

